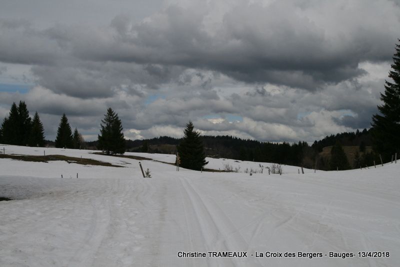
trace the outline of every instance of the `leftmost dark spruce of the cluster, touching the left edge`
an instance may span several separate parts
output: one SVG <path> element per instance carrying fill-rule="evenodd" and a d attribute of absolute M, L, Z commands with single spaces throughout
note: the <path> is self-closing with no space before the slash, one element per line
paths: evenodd
<path fill-rule="evenodd" d="M 5 117 L 1 124 L 1 131 L 2 142 L 16 145 L 21 143 L 18 107 L 15 102 L 11 105 L 8 117 Z"/>

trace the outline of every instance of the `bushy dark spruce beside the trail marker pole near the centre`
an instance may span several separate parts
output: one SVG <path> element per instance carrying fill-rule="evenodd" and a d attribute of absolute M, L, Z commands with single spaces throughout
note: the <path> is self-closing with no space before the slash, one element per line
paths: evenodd
<path fill-rule="evenodd" d="M 183 168 L 200 170 L 208 161 L 205 161 L 205 153 L 200 134 L 193 130 L 191 121 L 186 124 L 183 139 L 177 146 L 180 157 L 180 166 Z"/>

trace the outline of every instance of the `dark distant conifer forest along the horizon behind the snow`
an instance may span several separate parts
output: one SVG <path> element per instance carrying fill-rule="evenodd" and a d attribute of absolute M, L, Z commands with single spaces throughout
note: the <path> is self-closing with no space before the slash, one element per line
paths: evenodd
<path fill-rule="evenodd" d="M 302 141 L 298 143 L 272 143 L 257 140 L 241 139 L 234 136 L 201 136 L 206 155 L 209 157 L 224 157 L 237 160 L 258 162 L 272 162 L 287 165 L 297 165 L 314 168 L 315 162 L 318 169 L 331 169 L 329 166 L 330 149 L 323 152 L 324 147 L 333 146 L 336 142 L 343 145 L 347 154 L 349 167 L 358 168 L 373 165 L 373 160 L 378 162 L 378 155 L 373 154 L 369 148 L 372 145 L 371 134 L 367 129 L 356 132 L 343 132 L 329 135 L 312 145 Z M 126 151 L 150 153 L 176 153 L 176 145 L 180 138 L 160 136 L 143 140 L 126 140 Z M 87 148 L 95 149 L 97 141 L 86 142 Z M 369 148 L 369 149 L 366 149 Z M 353 153 L 349 155 L 349 153 Z M 354 155 L 358 153 L 358 155 Z M 356 160 L 356 162 L 354 162 Z"/>

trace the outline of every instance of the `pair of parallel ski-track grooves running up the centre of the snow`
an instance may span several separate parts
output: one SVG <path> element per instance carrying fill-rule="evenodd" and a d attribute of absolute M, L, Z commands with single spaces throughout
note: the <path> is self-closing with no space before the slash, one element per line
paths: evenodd
<path fill-rule="evenodd" d="M 239 230 L 216 203 L 204 199 L 185 178 L 180 178 L 199 221 L 201 231 L 210 251 L 245 251 L 248 246 Z M 217 262 L 210 261 L 211 266 Z M 230 266 L 239 263 L 229 258 Z M 219 264 L 218 264 L 219 265 Z M 246 266 L 262 266 L 247 258 Z"/>

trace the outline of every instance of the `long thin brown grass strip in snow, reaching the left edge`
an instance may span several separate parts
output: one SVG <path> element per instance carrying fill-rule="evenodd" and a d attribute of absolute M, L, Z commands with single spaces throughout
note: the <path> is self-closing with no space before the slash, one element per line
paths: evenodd
<path fill-rule="evenodd" d="M 0 154 L 0 158 L 11 158 L 15 160 L 23 161 L 34 161 L 34 162 L 48 162 L 54 160 L 62 160 L 68 163 L 76 163 L 82 165 L 98 165 L 107 167 L 123 167 L 119 165 L 113 165 L 109 162 L 103 162 L 91 158 L 80 158 L 65 155 L 13 155 L 13 154 Z"/>

